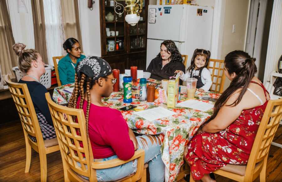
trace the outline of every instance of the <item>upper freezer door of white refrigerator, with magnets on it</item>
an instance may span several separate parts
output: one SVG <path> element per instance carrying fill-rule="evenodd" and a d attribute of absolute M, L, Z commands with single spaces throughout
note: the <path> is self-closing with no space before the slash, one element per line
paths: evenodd
<path fill-rule="evenodd" d="M 183 12 L 184 5 L 149 5 L 148 20 L 155 15 L 155 21 L 148 21 L 147 38 L 179 41 Z"/>

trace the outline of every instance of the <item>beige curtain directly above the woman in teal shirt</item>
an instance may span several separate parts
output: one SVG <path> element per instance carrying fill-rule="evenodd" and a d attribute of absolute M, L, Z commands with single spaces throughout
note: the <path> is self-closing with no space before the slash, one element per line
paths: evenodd
<path fill-rule="evenodd" d="M 65 30 L 65 38 L 76 38 L 81 45 L 81 32 L 77 0 L 61 0 L 62 19 Z"/>

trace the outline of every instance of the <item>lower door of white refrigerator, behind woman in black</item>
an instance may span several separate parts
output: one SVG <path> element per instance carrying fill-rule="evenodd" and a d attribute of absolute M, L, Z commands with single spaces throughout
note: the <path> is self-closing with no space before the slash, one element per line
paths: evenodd
<path fill-rule="evenodd" d="M 147 58 L 146 58 L 146 69 L 148 68 L 149 64 L 151 63 L 152 59 L 157 57 L 160 52 L 160 45 L 164 40 L 154 40 L 154 39 L 147 39 Z M 181 45 L 183 43 L 174 42 L 176 47 L 180 50 Z M 181 52 L 180 52 L 181 53 Z"/>

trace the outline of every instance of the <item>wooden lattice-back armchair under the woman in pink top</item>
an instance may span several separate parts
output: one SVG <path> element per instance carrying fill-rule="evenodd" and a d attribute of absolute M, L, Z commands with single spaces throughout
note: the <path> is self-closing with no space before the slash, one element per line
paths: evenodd
<path fill-rule="evenodd" d="M 112 168 L 125 164 L 133 159 L 138 159 L 137 171 L 119 181 L 146 181 L 144 150 L 135 151 L 133 157 L 126 161 L 112 159 L 106 162 L 93 162 L 91 144 L 89 140 L 87 141 L 86 137 L 86 125 L 83 110 L 67 108 L 55 104 L 51 100 L 49 93 L 46 93 L 45 97 L 50 108 L 60 146 L 65 181 L 87 181 L 80 176 L 83 175 L 88 177 L 89 181 L 96 182 L 96 169 Z M 67 120 L 64 119 L 64 114 L 66 115 Z M 74 121 L 73 117 L 77 118 L 78 123 Z M 81 135 L 77 135 L 76 130 L 80 130 Z M 80 146 L 81 142 L 83 147 Z M 83 157 L 83 153 L 85 154 L 85 158 Z M 77 162 L 80 162 L 81 167 L 77 165 Z"/>

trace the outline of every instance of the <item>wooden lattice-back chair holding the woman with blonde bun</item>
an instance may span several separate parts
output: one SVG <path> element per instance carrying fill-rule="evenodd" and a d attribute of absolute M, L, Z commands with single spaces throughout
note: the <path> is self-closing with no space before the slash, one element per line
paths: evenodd
<path fill-rule="evenodd" d="M 41 181 L 47 180 L 47 159 L 46 154 L 58 151 L 57 138 L 43 140 L 37 115 L 34 110 L 29 90 L 26 84 L 13 83 L 8 75 L 5 76 L 10 93 L 18 110 L 18 115 L 24 129 L 26 146 L 25 173 L 29 172 L 31 161 L 31 148 L 39 153 Z M 44 98 L 42 98 L 44 99 Z M 36 137 L 37 142 L 32 141 L 28 135 Z"/>

